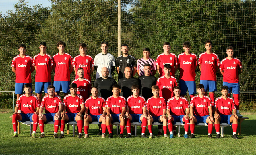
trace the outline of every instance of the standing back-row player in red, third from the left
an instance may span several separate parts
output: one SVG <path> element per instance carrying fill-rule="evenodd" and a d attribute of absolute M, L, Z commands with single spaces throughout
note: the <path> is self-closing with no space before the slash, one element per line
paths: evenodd
<path fill-rule="evenodd" d="M 58 41 L 57 48 L 59 49 L 59 53 L 53 56 L 53 72 L 55 72 L 53 85 L 55 87 L 55 95 L 59 95 L 60 89 L 62 89 L 64 95 L 69 93 L 73 60 L 71 55 L 65 53 L 65 47 L 65 42 Z"/>

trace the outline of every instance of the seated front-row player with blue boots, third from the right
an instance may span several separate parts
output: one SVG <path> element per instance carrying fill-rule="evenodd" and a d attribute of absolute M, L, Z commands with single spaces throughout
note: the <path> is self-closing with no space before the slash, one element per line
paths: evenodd
<path fill-rule="evenodd" d="M 167 101 L 166 113 L 168 115 L 168 128 L 170 131 L 170 138 L 173 138 L 172 126 L 176 122 L 185 124 L 185 138 L 188 138 L 189 129 L 189 103 L 185 97 L 180 96 L 181 90 L 179 86 L 175 86 L 174 97 Z M 172 125 L 173 124 L 173 125 Z"/>

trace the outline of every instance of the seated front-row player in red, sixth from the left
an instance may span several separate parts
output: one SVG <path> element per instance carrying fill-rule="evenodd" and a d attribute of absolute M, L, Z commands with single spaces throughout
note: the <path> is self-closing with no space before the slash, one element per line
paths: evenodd
<path fill-rule="evenodd" d="M 147 105 L 144 97 L 139 95 L 139 85 L 133 85 L 131 87 L 133 95 L 127 98 L 127 106 L 125 113 L 125 123 L 127 136 L 126 138 L 131 137 L 131 123 L 140 122 L 141 123 L 141 137 L 148 138 L 145 135 L 147 128 Z"/>

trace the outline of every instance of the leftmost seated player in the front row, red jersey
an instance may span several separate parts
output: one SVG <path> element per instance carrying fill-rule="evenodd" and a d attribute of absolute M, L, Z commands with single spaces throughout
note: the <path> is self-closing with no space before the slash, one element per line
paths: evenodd
<path fill-rule="evenodd" d="M 38 98 L 36 95 L 31 94 L 31 84 L 24 84 L 24 92 L 25 94 L 21 95 L 16 107 L 15 112 L 13 113 L 13 131 L 14 134 L 12 137 L 18 137 L 17 132 L 17 124 L 19 122 L 30 121 L 33 122 L 33 133 L 32 138 L 36 138 L 36 129 L 38 126 L 38 111 L 40 107 L 40 103 L 38 102 Z M 18 110 L 21 110 L 19 113 Z"/>

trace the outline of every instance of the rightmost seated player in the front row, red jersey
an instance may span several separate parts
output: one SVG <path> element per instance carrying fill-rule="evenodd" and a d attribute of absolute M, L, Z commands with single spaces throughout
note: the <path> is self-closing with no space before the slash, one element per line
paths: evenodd
<path fill-rule="evenodd" d="M 215 114 L 215 130 L 217 132 L 216 138 L 220 138 L 220 123 L 232 124 L 233 136 L 232 138 L 238 139 L 236 130 L 238 127 L 238 115 L 234 100 L 228 97 L 228 86 L 221 87 L 222 96 L 216 98 L 213 112 Z M 234 115 L 232 115 L 232 110 Z"/>

